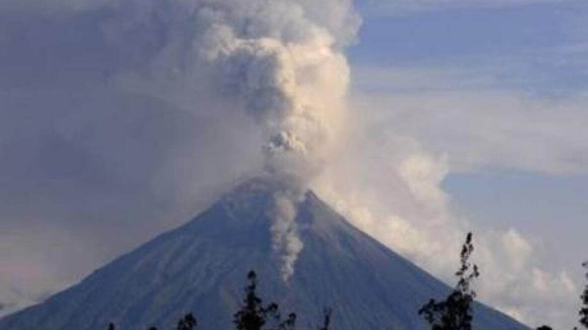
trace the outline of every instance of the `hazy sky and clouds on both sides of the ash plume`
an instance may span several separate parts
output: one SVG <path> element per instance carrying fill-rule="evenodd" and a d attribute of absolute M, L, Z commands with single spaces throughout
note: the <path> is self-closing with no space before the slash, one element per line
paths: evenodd
<path fill-rule="evenodd" d="M 423 237 L 439 228 L 419 221 L 451 218 L 457 237 L 480 229 L 484 274 L 504 257 L 533 282 L 519 299 L 487 281 L 489 301 L 569 325 L 576 311 L 553 306 L 575 308 L 567 294 L 588 258 L 588 3 L 359 0 L 355 36 L 348 1 L 296 1 L 329 35 L 312 25 L 287 38 L 352 45 L 348 153 L 319 191 L 337 204 L 332 183 L 345 181 L 355 200 L 340 211 L 443 278 L 453 254 L 435 255 Z M 282 14 L 248 33 L 273 33 Z M 0 3 L 0 314 L 183 223 L 260 167 L 258 123 L 205 78 L 239 84 L 191 62 L 202 26 L 190 24 L 166 1 Z M 317 76 L 344 89 L 336 64 Z"/>

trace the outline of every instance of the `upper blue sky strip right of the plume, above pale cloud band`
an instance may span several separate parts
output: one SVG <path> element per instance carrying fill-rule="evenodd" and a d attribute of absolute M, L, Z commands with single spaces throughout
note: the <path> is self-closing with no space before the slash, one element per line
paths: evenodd
<path fill-rule="evenodd" d="M 465 2 L 448 1 L 421 10 L 380 9 L 386 5 L 376 1 L 360 6 L 365 20 L 360 42 L 349 52 L 352 63 L 482 67 L 495 70 L 493 87 L 540 96 L 586 90 L 585 2 L 529 1 L 489 7 Z"/>

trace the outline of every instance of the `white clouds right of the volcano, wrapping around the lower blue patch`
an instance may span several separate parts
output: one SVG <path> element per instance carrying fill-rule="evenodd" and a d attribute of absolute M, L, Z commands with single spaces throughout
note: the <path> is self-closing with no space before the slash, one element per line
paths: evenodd
<path fill-rule="evenodd" d="M 480 299 L 529 325 L 569 328 L 578 287 L 568 272 L 547 270 L 540 245 L 514 228 L 456 214 L 440 187 L 449 171 L 587 173 L 588 98 L 500 88 L 508 69 L 354 70 L 356 120 L 316 187 L 359 228 L 449 282 L 473 230 Z"/>

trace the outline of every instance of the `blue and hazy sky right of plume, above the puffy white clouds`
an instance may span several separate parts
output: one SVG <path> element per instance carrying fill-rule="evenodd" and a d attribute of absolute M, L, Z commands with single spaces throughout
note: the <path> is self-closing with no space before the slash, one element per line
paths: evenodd
<path fill-rule="evenodd" d="M 368 0 L 360 12 L 349 51 L 360 105 L 447 157 L 455 214 L 515 229 L 544 268 L 581 281 L 588 3 Z"/>

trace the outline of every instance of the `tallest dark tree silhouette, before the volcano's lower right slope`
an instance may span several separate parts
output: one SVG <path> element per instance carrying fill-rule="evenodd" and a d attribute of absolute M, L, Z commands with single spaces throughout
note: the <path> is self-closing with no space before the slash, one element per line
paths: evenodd
<path fill-rule="evenodd" d="M 444 301 L 430 299 L 419 309 L 433 330 L 471 330 L 472 329 L 472 301 L 476 297 L 471 284 L 480 276 L 477 265 L 469 262 L 474 251 L 472 233 L 467 233 L 466 241 L 460 253 L 460 268 L 455 273 L 459 278 L 455 289 Z"/>

